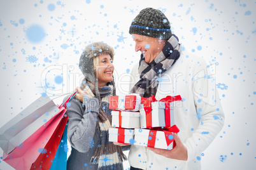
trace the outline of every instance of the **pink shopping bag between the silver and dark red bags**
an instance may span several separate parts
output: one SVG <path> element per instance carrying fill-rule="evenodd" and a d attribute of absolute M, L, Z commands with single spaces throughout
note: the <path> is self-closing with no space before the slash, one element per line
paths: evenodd
<path fill-rule="evenodd" d="M 51 150 L 47 150 L 46 144 L 50 140 L 59 123 L 64 119 L 66 109 L 60 108 L 59 112 L 47 121 L 41 128 L 33 133 L 19 147 L 15 148 L 10 154 L 4 153 L 3 160 L 10 166 L 18 170 L 31 169 L 31 165 L 38 159 L 40 154 L 47 157 Z"/>

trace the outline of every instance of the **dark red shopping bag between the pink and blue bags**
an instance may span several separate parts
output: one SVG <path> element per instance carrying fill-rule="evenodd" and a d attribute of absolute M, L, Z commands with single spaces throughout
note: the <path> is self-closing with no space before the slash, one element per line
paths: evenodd
<path fill-rule="evenodd" d="M 49 152 L 47 153 L 47 155 L 43 153 L 39 154 L 38 159 L 36 159 L 34 164 L 32 164 L 31 169 L 50 169 L 67 122 L 68 116 L 64 117 L 60 121 L 59 125 L 52 134 L 52 137 L 50 138 L 50 140 L 48 140 L 47 144 L 45 145 L 45 150 L 48 150 Z"/>

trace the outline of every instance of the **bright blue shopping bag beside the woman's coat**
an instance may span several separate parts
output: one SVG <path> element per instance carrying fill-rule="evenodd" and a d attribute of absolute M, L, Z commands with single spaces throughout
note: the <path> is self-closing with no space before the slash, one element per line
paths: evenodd
<path fill-rule="evenodd" d="M 62 140 L 59 144 L 58 150 L 52 162 L 50 170 L 66 170 L 67 169 L 67 157 L 68 157 L 68 124 L 64 130 Z"/>

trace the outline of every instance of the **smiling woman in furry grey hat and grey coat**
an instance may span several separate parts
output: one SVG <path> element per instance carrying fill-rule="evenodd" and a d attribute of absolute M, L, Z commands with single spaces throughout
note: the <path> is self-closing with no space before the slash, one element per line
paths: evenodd
<path fill-rule="evenodd" d="M 79 66 L 85 78 L 66 112 L 72 148 L 68 169 L 123 169 L 126 157 L 122 148 L 108 141 L 109 96 L 115 95 L 113 56 L 113 48 L 94 42 L 80 57 Z"/>

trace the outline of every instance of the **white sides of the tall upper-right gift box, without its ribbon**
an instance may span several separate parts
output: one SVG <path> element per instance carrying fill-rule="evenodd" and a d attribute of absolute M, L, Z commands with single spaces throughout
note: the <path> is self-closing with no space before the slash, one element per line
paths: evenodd
<path fill-rule="evenodd" d="M 150 128 L 155 127 L 166 127 L 166 106 L 164 101 L 155 101 L 151 103 L 152 107 L 152 126 Z M 170 122 L 171 126 L 174 125 L 174 109 L 173 102 L 170 103 Z M 146 112 L 141 104 L 139 107 L 139 116 L 140 116 L 140 124 L 141 128 L 146 128 Z"/>

